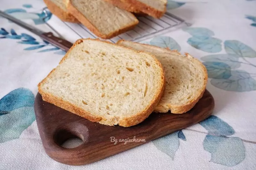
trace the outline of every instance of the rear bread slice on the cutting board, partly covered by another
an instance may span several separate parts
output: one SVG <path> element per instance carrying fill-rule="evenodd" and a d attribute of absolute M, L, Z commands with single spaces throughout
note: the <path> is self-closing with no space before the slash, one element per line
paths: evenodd
<path fill-rule="evenodd" d="M 208 79 L 204 65 L 188 53 L 120 40 L 117 44 L 156 56 L 164 67 L 166 87 L 164 96 L 156 106 L 156 112 L 184 113 L 192 109 L 203 96 Z"/>

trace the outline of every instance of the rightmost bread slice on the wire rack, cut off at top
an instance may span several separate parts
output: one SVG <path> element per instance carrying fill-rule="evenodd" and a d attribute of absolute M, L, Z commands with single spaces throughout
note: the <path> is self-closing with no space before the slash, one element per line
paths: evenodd
<path fill-rule="evenodd" d="M 167 0 L 105 0 L 119 8 L 135 13 L 145 13 L 161 18 L 166 11 Z"/>

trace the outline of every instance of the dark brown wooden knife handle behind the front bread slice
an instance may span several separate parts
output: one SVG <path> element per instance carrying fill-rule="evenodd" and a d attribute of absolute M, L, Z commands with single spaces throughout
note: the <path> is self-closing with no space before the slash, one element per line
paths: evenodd
<path fill-rule="evenodd" d="M 53 46 L 59 47 L 64 51 L 68 51 L 73 44 L 65 39 L 61 39 L 59 37 L 55 37 L 52 32 L 46 32 L 41 35 L 41 38 L 45 41 L 48 41 Z"/>

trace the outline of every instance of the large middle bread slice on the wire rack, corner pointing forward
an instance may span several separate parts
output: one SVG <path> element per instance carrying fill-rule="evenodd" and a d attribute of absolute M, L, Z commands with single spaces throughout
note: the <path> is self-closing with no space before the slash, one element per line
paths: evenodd
<path fill-rule="evenodd" d="M 102 39 L 113 38 L 139 23 L 132 13 L 104 0 L 70 0 L 68 11 Z"/>

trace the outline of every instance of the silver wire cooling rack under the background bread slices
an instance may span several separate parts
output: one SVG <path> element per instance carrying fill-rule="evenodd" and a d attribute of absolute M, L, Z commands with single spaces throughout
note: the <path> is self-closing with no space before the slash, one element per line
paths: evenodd
<path fill-rule="evenodd" d="M 171 29 L 175 29 L 182 24 L 188 25 L 185 20 L 169 12 L 166 12 L 165 15 L 160 19 L 156 19 L 150 16 L 139 17 L 138 19 L 139 24 L 133 30 L 127 31 L 112 39 L 109 39 L 109 41 L 113 43 L 116 43 L 120 39 L 142 41 L 149 39 L 156 34 L 171 31 Z M 76 32 L 76 34 L 81 38 L 98 38 L 82 24 L 74 24 L 68 22 L 64 22 L 64 24 Z"/>

